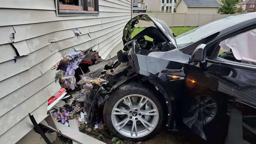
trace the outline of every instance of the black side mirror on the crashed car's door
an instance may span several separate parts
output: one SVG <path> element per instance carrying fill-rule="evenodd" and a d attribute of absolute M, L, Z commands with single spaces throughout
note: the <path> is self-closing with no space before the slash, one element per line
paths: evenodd
<path fill-rule="evenodd" d="M 205 63 L 206 60 L 206 44 L 201 44 L 193 51 L 190 60 L 193 62 Z"/>

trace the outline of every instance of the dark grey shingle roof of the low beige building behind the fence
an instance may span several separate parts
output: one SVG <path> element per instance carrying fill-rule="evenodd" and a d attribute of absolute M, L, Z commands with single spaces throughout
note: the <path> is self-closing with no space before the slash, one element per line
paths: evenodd
<path fill-rule="evenodd" d="M 216 0 L 183 0 L 187 7 L 221 7 Z"/>

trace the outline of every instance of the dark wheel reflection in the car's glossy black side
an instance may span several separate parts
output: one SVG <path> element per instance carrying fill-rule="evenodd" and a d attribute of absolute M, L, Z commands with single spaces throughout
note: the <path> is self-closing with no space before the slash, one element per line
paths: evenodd
<path fill-rule="evenodd" d="M 198 118 L 204 125 L 213 120 L 217 114 L 217 102 L 209 95 L 199 95 L 194 99 L 193 103 L 191 111 L 198 112 Z"/>

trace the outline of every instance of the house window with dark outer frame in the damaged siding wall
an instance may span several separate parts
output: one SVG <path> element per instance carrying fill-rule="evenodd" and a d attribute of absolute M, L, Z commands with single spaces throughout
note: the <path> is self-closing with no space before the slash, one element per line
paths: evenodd
<path fill-rule="evenodd" d="M 99 0 L 56 0 L 59 16 L 69 14 L 99 14 Z"/>

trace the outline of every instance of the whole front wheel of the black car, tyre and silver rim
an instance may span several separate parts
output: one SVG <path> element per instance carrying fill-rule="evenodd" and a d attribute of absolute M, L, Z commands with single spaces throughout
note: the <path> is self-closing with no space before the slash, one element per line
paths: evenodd
<path fill-rule="evenodd" d="M 156 96 L 155 91 L 138 83 L 118 87 L 104 106 L 107 129 L 125 140 L 149 138 L 163 120 L 162 106 Z"/>

